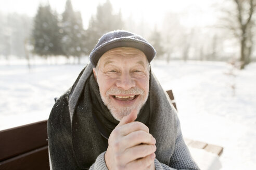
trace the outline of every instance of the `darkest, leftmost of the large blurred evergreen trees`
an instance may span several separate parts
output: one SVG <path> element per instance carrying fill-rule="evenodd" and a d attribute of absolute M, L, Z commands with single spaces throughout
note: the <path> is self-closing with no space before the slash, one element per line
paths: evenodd
<path fill-rule="evenodd" d="M 45 56 L 62 54 L 57 15 L 49 5 L 40 5 L 32 33 L 34 53 Z"/>

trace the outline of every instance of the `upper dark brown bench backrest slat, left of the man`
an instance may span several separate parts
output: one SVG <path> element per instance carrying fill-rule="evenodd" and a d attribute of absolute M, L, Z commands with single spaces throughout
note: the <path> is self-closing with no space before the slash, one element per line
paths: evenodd
<path fill-rule="evenodd" d="M 47 145 L 47 120 L 0 131 L 0 161 Z"/>

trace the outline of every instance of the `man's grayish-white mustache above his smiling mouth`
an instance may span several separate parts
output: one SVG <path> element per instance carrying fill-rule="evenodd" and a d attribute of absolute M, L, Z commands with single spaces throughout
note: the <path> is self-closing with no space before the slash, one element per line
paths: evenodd
<path fill-rule="evenodd" d="M 123 90 L 123 89 L 119 89 L 119 88 L 111 88 L 109 89 L 107 92 L 106 92 L 107 95 L 113 95 L 113 94 L 141 94 L 141 95 L 144 95 L 145 92 L 138 88 L 138 87 L 134 87 L 134 88 L 131 88 L 129 90 Z"/>

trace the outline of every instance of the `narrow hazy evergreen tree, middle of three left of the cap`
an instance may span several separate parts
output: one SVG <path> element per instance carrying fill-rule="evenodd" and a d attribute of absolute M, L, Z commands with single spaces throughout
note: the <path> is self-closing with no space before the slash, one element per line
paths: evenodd
<path fill-rule="evenodd" d="M 67 0 L 65 11 L 62 14 L 62 50 L 69 56 L 80 56 L 87 51 L 85 48 L 85 32 L 80 12 L 74 12 L 71 1 Z"/>

